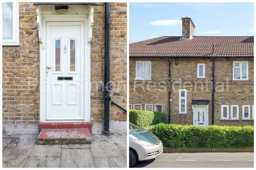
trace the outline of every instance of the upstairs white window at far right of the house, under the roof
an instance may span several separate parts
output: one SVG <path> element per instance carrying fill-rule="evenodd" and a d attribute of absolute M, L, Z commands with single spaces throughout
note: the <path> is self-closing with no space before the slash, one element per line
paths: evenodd
<path fill-rule="evenodd" d="M 233 62 L 233 80 L 249 80 L 248 62 Z"/>

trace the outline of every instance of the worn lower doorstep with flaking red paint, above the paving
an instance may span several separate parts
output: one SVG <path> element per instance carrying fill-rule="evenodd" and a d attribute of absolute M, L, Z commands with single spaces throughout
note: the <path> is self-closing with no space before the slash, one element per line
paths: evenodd
<path fill-rule="evenodd" d="M 41 129 L 36 143 L 53 144 L 91 144 L 91 132 L 88 128 Z"/>

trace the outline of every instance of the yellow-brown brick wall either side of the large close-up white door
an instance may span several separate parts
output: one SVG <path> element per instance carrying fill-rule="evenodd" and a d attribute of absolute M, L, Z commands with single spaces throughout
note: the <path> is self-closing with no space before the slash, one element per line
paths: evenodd
<path fill-rule="evenodd" d="M 111 3 L 110 10 L 111 98 L 126 107 L 126 3 Z M 34 95 L 39 109 L 39 88 L 35 92 L 39 77 L 36 7 L 33 3 L 20 3 L 19 14 L 20 46 L 3 46 L 3 123 L 36 124 L 39 120 L 34 118 L 37 115 Z M 98 3 L 94 7 L 93 25 L 93 39 L 97 43 L 91 44 L 91 120 L 95 123 L 102 123 L 99 84 L 104 73 L 104 15 L 103 3 Z M 126 120 L 126 114 L 111 106 L 110 118 Z"/>

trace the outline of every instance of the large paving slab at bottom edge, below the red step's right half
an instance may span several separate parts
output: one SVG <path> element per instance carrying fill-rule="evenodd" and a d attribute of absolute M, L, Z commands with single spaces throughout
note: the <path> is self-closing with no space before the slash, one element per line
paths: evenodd
<path fill-rule="evenodd" d="M 62 149 L 60 167 L 95 167 L 90 149 Z"/>

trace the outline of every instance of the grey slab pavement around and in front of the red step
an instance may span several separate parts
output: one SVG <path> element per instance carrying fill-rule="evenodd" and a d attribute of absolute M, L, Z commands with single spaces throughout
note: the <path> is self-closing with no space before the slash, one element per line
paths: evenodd
<path fill-rule="evenodd" d="M 92 144 L 37 145 L 37 135 L 3 135 L 3 167 L 126 167 L 126 134 L 92 135 Z"/>

